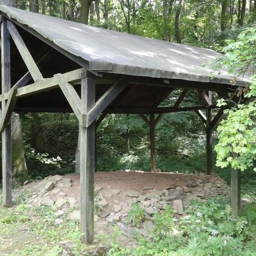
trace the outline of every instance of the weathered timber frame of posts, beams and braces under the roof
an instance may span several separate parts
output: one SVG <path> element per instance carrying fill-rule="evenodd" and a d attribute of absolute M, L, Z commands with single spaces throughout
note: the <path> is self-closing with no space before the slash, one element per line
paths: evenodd
<path fill-rule="evenodd" d="M 112 86 L 96 101 L 95 88 L 96 79 L 100 79 L 102 74 L 90 71 L 86 62 L 71 56 L 58 47 L 54 46 L 52 42 L 48 42 L 40 35 L 36 35 L 41 40 L 47 42 L 51 47 L 57 49 L 67 57 L 72 58 L 82 67 L 71 72 L 63 74 L 55 74 L 51 78 L 44 78 L 40 72 L 40 68 L 50 60 L 51 50 L 45 54 L 39 61 L 35 62 L 26 47 L 22 36 L 20 36 L 16 26 L 13 24 L 14 20 L 9 20 L 2 15 L 1 18 L 1 61 L 2 61 L 2 101 L 1 110 L 1 131 L 2 131 L 2 154 L 3 154 L 3 202 L 9 207 L 12 204 L 12 163 L 11 163 L 11 114 L 15 108 L 15 102 L 18 98 L 27 97 L 33 94 L 60 88 L 63 95 L 65 95 L 80 126 L 80 229 L 83 233 L 83 242 L 93 241 L 94 229 L 94 171 L 95 171 L 95 129 L 104 119 L 108 113 L 125 113 L 138 114 L 142 117 L 145 123 L 150 127 L 151 138 L 151 166 L 152 171 L 156 170 L 155 158 L 155 127 L 162 118 L 164 113 L 195 111 L 197 115 L 206 125 L 206 141 L 207 141 L 207 174 L 212 171 L 212 129 L 217 124 L 223 114 L 223 108 L 219 109 L 217 115 L 212 118 L 212 109 L 217 108 L 216 104 L 211 102 L 211 91 L 216 91 L 220 97 L 227 99 L 228 92 L 222 87 L 216 87 L 214 84 L 207 84 L 205 87 L 208 90 L 200 90 L 196 82 L 181 81 L 177 86 L 170 84 L 168 79 L 143 78 L 123 75 L 115 80 Z M 18 26 L 23 25 L 18 24 Z M 31 29 L 27 30 L 32 33 Z M 33 32 L 34 34 L 36 32 Z M 20 54 L 22 56 L 28 72 L 19 79 L 16 84 L 11 87 L 11 72 L 10 72 L 10 37 Z M 33 83 L 27 84 L 31 79 Z M 81 86 L 81 96 L 77 94 L 74 89 L 74 84 L 78 83 Z M 159 107 L 157 105 L 151 108 L 120 108 L 118 102 L 115 103 L 115 108 L 109 108 L 111 102 L 121 100 L 125 94 L 129 93 L 129 84 L 146 84 L 148 86 L 168 87 L 172 90 L 183 88 L 183 91 L 175 104 L 169 107 Z M 188 90 L 199 90 L 198 93 L 203 100 L 202 105 L 180 107 L 180 104 L 186 96 Z M 161 100 L 164 100 L 168 95 L 162 95 Z M 202 110 L 206 111 L 206 115 Z M 39 111 L 36 108 L 27 109 L 27 111 Z M 53 109 L 52 111 L 70 111 L 66 109 Z M 99 116 L 101 114 L 101 116 Z M 145 116 L 149 114 L 149 120 Z M 157 114 L 157 116 L 155 116 Z M 96 121 L 96 118 L 99 118 Z M 239 175 L 233 177 L 233 184 L 239 182 Z M 232 198 L 233 205 L 238 202 L 240 198 L 237 185 L 232 186 L 232 191 L 235 197 Z M 234 212 L 237 214 L 239 206 L 234 207 Z"/>

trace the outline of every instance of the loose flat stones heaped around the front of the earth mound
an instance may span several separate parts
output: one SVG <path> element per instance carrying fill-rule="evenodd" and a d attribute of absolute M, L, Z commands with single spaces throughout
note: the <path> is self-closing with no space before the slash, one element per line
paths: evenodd
<path fill-rule="evenodd" d="M 96 187 L 97 204 L 101 208 L 101 213 L 100 216 L 95 215 L 95 221 L 117 223 L 124 234 L 131 234 L 135 229 L 124 223 L 127 223 L 126 217 L 133 204 L 138 202 L 145 210 L 145 216 L 142 226 L 137 231 L 146 236 L 147 230 L 153 228 L 154 213 L 163 212 L 167 205 L 170 205 L 176 214 L 182 215 L 184 207 L 187 207 L 193 199 L 204 201 L 218 195 L 228 196 L 225 181 L 214 173 L 211 176 L 199 174 L 188 177 L 186 185 L 169 186 L 163 190 L 146 186 L 140 191 L 122 191 L 112 186 Z M 70 177 L 55 175 L 27 184 L 23 190 L 29 193 L 28 205 L 53 207 L 56 216 L 55 224 L 58 225 L 63 222 L 63 216 L 79 220 L 79 197 L 70 195 L 71 186 Z M 79 192 L 77 194 L 79 195 Z M 65 215 L 69 207 L 72 207 L 73 211 Z"/>

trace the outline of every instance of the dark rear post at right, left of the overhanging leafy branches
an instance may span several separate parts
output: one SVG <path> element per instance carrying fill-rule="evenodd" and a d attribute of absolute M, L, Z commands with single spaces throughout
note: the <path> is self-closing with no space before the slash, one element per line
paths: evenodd
<path fill-rule="evenodd" d="M 207 92 L 209 100 L 211 101 L 211 92 Z M 210 125 L 212 119 L 212 110 L 207 106 L 206 108 L 206 162 L 207 174 L 212 172 L 212 127 Z"/>

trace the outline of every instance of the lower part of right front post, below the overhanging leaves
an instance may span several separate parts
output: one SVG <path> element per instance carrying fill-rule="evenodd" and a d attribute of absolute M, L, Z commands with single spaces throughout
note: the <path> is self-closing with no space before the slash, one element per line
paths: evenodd
<path fill-rule="evenodd" d="M 230 203 L 234 217 L 238 217 L 241 201 L 241 170 L 231 170 Z"/>

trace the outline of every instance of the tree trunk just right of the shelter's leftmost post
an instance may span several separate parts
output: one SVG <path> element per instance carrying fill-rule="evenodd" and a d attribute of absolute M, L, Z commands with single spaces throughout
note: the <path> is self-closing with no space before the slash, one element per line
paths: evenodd
<path fill-rule="evenodd" d="M 12 175 L 14 177 L 27 177 L 28 169 L 25 159 L 22 124 L 19 115 L 12 114 L 11 118 L 12 132 Z"/>

